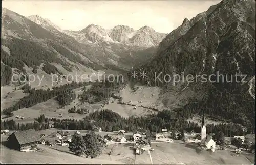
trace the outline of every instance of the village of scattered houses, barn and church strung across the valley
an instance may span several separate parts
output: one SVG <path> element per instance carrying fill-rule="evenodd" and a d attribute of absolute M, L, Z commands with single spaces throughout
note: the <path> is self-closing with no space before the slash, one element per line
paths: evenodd
<path fill-rule="evenodd" d="M 149 155 L 151 164 L 154 164 L 151 155 L 157 154 L 156 152 L 158 151 L 156 148 L 161 144 L 164 144 L 164 146 L 167 146 L 168 144 L 189 144 L 200 150 L 205 150 L 206 152 L 218 153 L 219 151 L 216 150 L 226 150 L 232 152 L 232 156 L 236 157 L 243 154 L 253 155 L 255 153 L 255 137 L 250 137 L 249 135 L 225 137 L 225 148 L 217 145 L 212 138 L 214 134 L 206 134 L 204 117 L 202 119 L 201 133 L 196 133 L 194 131 L 180 132 L 178 130 L 172 132 L 167 129 L 162 129 L 160 133 L 139 131 L 125 132 L 124 130 L 104 132 L 98 126 L 93 126 L 92 130 L 59 130 L 48 134 L 44 133 L 44 131 L 35 131 L 34 129 L 14 132 L 3 130 L 1 131 L 1 142 L 3 142 L 4 137 L 6 137 L 6 146 L 9 144 L 9 147 L 18 150 L 17 152 L 40 152 L 40 149 L 38 149 L 40 147 L 38 146 L 41 145 L 58 151 L 68 152 L 68 146 L 72 142 L 72 136 L 74 134 L 85 137 L 85 135 L 91 131 L 95 132 L 97 135 L 97 139 L 102 145 L 102 150 L 112 146 L 106 154 L 113 155 L 113 147 L 115 145 L 125 146 L 125 144 L 127 144 L 130 146 L 130 149 L 132 148 L 131 151 L 129 150 L 131 155 Z M 246 139 L 247 141 L 249 139 L 249 143 L 251 144 L 250 148 L 248 148 L 248 146 L 247 148 L 245 147 Z"/>

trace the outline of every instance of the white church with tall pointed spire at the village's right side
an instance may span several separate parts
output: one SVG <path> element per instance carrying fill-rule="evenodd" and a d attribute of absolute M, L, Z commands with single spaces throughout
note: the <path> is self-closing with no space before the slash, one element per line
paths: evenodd
<path fill-rule="evenodd" d="M 206 133 L 206 120 L 204 113 L 201 124 L 201 145 L 205 146 L 207 149 L 210 149 L 212 152 L 215 151 L 215 141 Z"/>

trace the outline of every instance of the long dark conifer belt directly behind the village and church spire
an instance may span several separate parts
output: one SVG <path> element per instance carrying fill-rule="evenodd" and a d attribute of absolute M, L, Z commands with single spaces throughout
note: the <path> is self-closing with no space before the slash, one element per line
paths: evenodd
<path fill-rule="evenodd" d="M 166 128 L 169 130 L 179 131 L 194 130 L 195 132 L 200 133 L 201 129 L 200 125 L 197 123 L 187 122 L 183 114 L 178 111 L 171 112 L 167 110 L 144 117 L 131 116 L 129 118 L 123 118 L 119 114 L 110 110 L 103 110 L 89 114 L 89 116 L 84 118 L 84 120 L 51 120 L 55 121 L 55 128 L 70 130 L 92 129 L 93 125 L 100 126 L 103 131 L 118 131 L 123 129 L 127 132 L 139 129 L 160 132 L 162 128 Z M 242 127 L 238 124 L 207 125 L 207 133 L 217 133 L 219 131 L 224 132 L 226 136 L 244 134 Z"/>

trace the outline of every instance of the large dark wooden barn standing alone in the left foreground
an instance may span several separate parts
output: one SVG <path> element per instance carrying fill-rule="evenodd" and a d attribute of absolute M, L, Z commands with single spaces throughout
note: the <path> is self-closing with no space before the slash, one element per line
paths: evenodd
<path fill-rule="evenodd" d="M 19 151 L 36 149 L 40 135 L 34 130 L 13 132 L 8 138 L 8 146 Z"/>

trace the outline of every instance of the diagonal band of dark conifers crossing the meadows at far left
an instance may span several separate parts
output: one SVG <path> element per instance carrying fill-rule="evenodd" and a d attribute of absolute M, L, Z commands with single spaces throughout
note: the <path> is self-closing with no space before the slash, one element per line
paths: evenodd
<path fill-rule="evenodd" d="M 4 109 L 3 113 L 5 115 L 10 115 L 11 112 L 16 111 L 18 109 L 29 108 L 33 105 L 36 105 L 38 103 L 45 102 L 51 98 L 54 98 L 55 96 L 58 96 L 61 93 L 66 93 L 69 90 L 90 85 L 90 84 L 91 84 L 90 82 L 71 82 L 69 84 L 61 85 L 59 87 L 53 87 L 53 90 L 50 90 L 49 88 L 47 90 L 43 90 L 43 89 L 36 90 L 35 88 L 33 89 L 28 88 L 26 85 L 25 87 L 26 90 L 24 90 L 24 93 L 29 93 L 29 95 L 20 99 L 12 107 Z"/>

